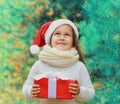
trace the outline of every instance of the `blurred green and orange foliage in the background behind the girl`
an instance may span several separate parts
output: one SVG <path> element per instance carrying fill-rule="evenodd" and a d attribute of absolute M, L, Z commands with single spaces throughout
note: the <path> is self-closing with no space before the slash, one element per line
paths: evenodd
<path fill-rule="evenodd" d="M 0 104 L 32 104 L 21 92 L 37 60 L 29 47 L 40 26 L 72 20 L 96 89 L 87 104 L 118 104 L 120 99 L 119 0 L 0 0 Z M 36 100 L 37 102 L 37 100 Z"/>

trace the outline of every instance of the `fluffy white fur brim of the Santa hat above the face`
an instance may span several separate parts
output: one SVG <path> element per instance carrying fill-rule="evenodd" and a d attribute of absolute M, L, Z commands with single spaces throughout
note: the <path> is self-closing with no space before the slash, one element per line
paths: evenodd
<path fill-rule="evenodd" d="M 71 22 L 70 20 L 68 19 L 59 19 L 59 20 L 55 20 L 53 21 L 49 28 L 47 29 L 46 33 L 45 33 L 45 42 L 46 44 L 49 44 L 50 43 L 50 37 L 52 35 L 52 33 L 55 31 L 55 29 L 60 26 L 60 25 L 63 25 L 63 24 L 68 24 L 70 25 L 73 30 L 74 30 L 74 33 L 75 35 L 77 36 L 78 38 L 78 30 L 77 30 L 77 27 L 74 25 L 73 22 Z"/>

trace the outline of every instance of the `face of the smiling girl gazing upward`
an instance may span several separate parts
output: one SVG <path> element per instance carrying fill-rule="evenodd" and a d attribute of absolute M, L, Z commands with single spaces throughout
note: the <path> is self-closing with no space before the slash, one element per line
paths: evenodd
<path fill-rule="evenodd" d="M 59 26 L 52 34 L 51 47 L 70 50 L 73 46 L 73 30 L 69 25 Z"/>

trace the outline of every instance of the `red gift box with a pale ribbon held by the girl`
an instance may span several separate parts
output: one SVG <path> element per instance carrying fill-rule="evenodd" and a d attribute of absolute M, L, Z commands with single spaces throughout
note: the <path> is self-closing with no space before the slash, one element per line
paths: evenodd
<path fill-rule="evenodd" d="M 34 84 L 40 85 L 38 98 L 72 99 L 72 94 L 69 92 L 70 83 L 75 83 L 75 80 L 64 80 L 55 76 L 46 76 L 34 80 Z"/>

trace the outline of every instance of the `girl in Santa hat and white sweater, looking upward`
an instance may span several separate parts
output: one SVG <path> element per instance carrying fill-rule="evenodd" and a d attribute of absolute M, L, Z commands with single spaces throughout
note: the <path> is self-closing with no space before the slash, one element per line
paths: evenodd
<path fill-rule="evenodd" d="M 72 100 L 41 98 L 41 104 L 80 104 L 94 97 L 95 90 L 79 48 L 78 37 L 78 30 L 70 20 L 59 19 L 43 24 L 30 48 L 32 54 L 39 53 L 39 60 L 32 66 L 23 85 L 25 98 L 36 98 L 40 92 L 40 86 L 34 84 L 34 77 L 38 74 L 72 78 L 77 82 L 69 85 Z M 40 47 L 43 50 L 39 52 Z"/>

